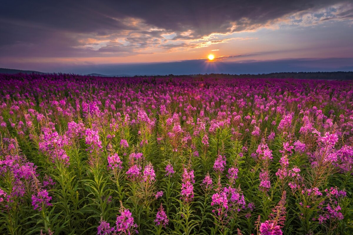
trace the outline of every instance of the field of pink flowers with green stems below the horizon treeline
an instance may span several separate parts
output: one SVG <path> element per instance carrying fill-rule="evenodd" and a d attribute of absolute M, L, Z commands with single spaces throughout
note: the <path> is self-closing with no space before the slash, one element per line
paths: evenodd
<path fill-rule="evenodd" d="M 0 75 L 0 234 L 352 234 L 353 82 Z"/>

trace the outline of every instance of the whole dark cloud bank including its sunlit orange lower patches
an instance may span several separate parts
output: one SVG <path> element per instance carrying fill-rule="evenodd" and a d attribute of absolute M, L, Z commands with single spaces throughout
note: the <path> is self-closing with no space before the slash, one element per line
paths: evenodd
<path fill-rule="evenodd" d="M 0 56 L 82 57 L 99 56 L 109 51 L 133 53 L 136 49 L 160 44 L 163 33 L 175 33 L 175 40 L 197 39 L 214 32 L 256 29 L 287 14 L 315 11 L 337 2 L 3 1 L 0 7 Z M 351 17 L 349 11 L 341 14 L 337 17 Z M 126 38 L 126 42 L 110 42 L 95 49 L 97 43 L 87 45 L 82 40 L 88 37 L 101 40 L 120 37 Z"/>

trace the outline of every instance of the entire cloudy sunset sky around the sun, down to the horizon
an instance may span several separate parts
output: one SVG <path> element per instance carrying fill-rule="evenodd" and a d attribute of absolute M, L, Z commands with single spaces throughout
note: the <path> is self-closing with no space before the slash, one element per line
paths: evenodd
<path fill-rule="evenodd" d="M 40 72 L 352 71 L 353 1 L 13 0 L 0 36 L 0 67 Z"/>

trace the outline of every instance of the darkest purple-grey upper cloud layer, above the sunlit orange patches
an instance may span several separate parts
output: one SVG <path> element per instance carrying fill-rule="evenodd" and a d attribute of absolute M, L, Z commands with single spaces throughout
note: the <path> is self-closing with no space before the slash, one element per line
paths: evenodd
<path fill-rule="evenodd" d="M 238 22 L 233 31 L 264 24 L 285 14 L 319 9 L 333 0 L 180 0 L 180 1 L 6 1 L 1 18 L 22 20 L 73 32 L 107 33 L 133 29 L 124 25 L 124 17 L 140 18 L 146 23 L 172 31 L 194 30 L 195 36 L 228 32 L 230 22 Z M 247 19 L 247 20 L 244 20 Z"/>

